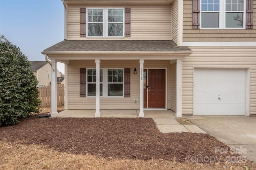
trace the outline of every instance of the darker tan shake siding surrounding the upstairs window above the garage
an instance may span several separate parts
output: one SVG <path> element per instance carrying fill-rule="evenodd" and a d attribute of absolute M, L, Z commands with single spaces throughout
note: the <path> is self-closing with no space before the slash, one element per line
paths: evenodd
<path fill-rule="evenodd" d="M 256 41 L 256 0 L 253 29 L 192 29 L 192 0 L 183 1 L 183 42 Z"/>

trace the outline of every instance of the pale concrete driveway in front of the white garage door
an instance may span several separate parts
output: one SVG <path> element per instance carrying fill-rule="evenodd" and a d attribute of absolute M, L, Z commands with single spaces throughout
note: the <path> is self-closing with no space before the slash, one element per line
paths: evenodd
<path fill-rule="evenodd" d="M 187 116 L 198 127 L 256 162 L 256 117 Z M 221 148 L 220 148 L 221 149 Z"/>

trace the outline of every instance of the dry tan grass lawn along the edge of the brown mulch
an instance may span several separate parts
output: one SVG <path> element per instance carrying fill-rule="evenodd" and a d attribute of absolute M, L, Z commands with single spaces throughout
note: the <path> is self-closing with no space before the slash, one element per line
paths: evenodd
<path fill-rule="evenodd" d="M 0 141 L 1 170 L 244 170 L 244 164 L 177 163 L 168 160 L 95 158 L 57 152 L 42 145 Z M 251 169 L 253 170 L 253 169 Z"/>

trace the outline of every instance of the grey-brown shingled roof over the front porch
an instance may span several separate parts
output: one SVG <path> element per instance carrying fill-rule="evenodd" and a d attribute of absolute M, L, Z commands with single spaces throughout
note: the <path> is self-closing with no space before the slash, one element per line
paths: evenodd
<path fill-rule="evenodd" d="M 191 51 L 171 40 L 64 40 L 44 52 L 71 51 Z"/>

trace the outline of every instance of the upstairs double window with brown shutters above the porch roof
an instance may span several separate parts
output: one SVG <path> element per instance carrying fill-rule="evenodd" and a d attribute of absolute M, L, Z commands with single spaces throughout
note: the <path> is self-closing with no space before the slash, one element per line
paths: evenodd
<path fill-rule="evenodd" d="M 80 8 L 80 37 L 130 37 L 131 8 Z"/>

